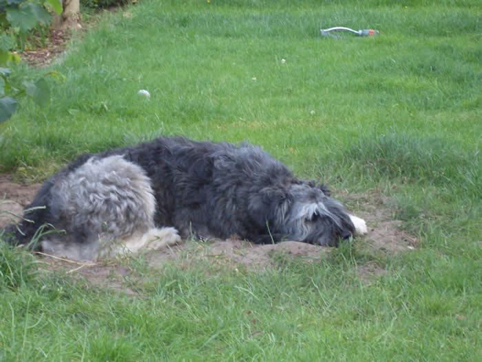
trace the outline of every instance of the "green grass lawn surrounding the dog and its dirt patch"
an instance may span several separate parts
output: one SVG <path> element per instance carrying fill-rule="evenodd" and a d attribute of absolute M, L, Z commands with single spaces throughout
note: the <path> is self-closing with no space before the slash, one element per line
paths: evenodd
<path fill-rule="evenodd" d="M 132 296 L 0 244 L 0 360 L 479 361 L 481 16 L 475 0 L 144 0 L 50 68 L 19 66 L 66 79 L 0 124 L 0 172 L 41 180 L 160 134 L 247 140 L 335 196 L 383 195 L 419 245 L 262 272 L 133 260 Z M 387 272 L 362 282 L 366 261 Z"/>

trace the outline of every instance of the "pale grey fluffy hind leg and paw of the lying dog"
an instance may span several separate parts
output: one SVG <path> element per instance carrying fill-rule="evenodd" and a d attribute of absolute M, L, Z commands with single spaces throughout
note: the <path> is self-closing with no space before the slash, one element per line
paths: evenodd
<path fill-rule="evenodd" d="M 176 229 L 155 228 L 151 180 L 120 155 L 89 159 L 52 189 L 50 209 L 65 220 L 67 233 L 61 238 L 67 245 L 43 243 L 54 254 L 68 250 L 72 259 L 95 260 L 180 241 Z M 59 253 L 56 247 L 61 247 Z"/>

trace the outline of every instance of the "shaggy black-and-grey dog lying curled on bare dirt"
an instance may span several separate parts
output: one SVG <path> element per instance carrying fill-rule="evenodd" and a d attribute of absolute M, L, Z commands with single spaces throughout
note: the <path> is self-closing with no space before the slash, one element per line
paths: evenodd
<path fill-rule="evenodd" d="M 182 137 L 84 154 L 45 181 L 25 211 L 3 238 L 33 239 L 34 248 L 72 259 L 160 249 L 189 236 L 336 246 L 366 232 L 326 186 L 297 179 L 260 147 Z"/>

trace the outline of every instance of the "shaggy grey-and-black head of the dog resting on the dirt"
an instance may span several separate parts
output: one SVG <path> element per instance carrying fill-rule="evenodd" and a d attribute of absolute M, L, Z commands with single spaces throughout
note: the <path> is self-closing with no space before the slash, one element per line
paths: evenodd
<path fill-rule="evenodd" d="M 349 239 L 355 226 L 339 201 L 331 199 L 324 186 L 313 183 L 290 185 L 281 203 L 282 219 L 277 229 L 286 237 L 305 243 L 337 246 Z"/>

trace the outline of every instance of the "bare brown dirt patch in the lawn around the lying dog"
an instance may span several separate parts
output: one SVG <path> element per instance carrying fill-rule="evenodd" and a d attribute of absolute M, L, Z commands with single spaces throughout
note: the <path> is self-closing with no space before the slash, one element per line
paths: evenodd
<path fill-rule="evenodd" d="M 15 219 L 14 215 L 21 215 L 23 208 L 34 199 L 40 187 L 39 183 L 24 185 L 14 181 L 10 175 L 0 175 L 0 228 Z M 357 243 L 385 253 L 404 252 L 415 247 L 417 239 L 401 230 L 401 221 L 391 219 L 392 213 L 383 197 L 350 194 L 346 195 L 346 198 L 357 201 L 359 211 L 355 214 L 365 219 L 368 226 L 368 234 L 357 239 Z M 173 248 L 149 252 L 147 260 L 152 268 L 157 269 L 162 269 L 169 261 L 178 263 L 182 268 L 189 268 L 195 261 L 207 261 L 222 268 L 262 270 L 273 267 L 276 256 L 280 254 L 313 263 L 321 261 L 330 250 L 331 248 L 297 241 L 269 245 L 256 245 L 239 239 L 213 240 L 206 243 L 183 241 Z M 45 255 L 39 257 L 45 262 L 41 265 L 46 265 L 45 268 L 49 270 L 65 270 L 69 274 L 85 277 L 90 283 L 134 293 L 123 283 L 127 276 L 135 273 L 126 263 L 91 263 Z M 383 275 L 385 270 L 375 262 L 368 262 L 358 265 L 357 272 L 362 281 L 369 282 L 376 276 Z"/>

